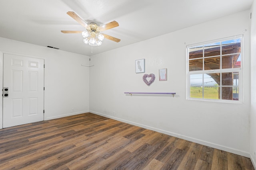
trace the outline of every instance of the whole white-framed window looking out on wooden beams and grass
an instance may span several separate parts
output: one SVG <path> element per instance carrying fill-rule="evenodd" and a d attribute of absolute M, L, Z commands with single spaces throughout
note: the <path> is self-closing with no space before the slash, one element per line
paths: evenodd
<path fill-rule="evenodd" d="M 242 102 L 242 35 L 187 45 L 187 98 Z"/>

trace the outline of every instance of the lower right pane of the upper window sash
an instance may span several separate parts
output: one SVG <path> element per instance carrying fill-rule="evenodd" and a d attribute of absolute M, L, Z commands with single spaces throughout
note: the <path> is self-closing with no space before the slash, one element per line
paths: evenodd
<path fill-rule="evenodd" d="M 240 58 L 239 57 L 240 57 L 240 54 L 222 56 L 222 69 L 223 68 L 240 68 L 241 57 Z"/>

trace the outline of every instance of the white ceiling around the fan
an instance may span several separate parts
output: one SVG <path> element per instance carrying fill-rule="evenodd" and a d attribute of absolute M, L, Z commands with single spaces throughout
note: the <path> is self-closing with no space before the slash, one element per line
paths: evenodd
<path fill-rule="evenodd" d="M 253 0 L 0 0 L 0 37 L 41 46 L 52 46 L 82 55 L 95 55 L 250 9 Z M 92 47 L 80 34 L 85 30 L 66 12 L 73 11 L 86 23 L 119 27 L 103 33 L 121 39 L 104 39 Z M 239 23 L 239 22 L 238 22 Z M 91 53 L 91 50 L 93 53 Z"/>

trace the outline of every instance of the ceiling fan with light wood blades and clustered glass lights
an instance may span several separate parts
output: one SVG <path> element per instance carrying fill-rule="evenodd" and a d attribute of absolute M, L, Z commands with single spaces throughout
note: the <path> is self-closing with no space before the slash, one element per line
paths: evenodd
<path fill-rule="evenodd" d="M 114 27 L 119 26 L 118 22 L 112 21 L 110 23 L 107 23 L 102 26 L 98 26 L 96 23 L 92 22 L 90 24 L 87 24 L 84 20 L 82 20 L 76 13 L 74 12 L 67 12 L 69 16 L 71 16 L 74 20 L 76 20 L 78 23 L 80 23 L 83 27 L 86 28 L 86 31 L 61 31 L 62 33 L 82 33 L 82 36 L 84 37 L 84 43 L 97 46 L 102 44 L 102 40 L 104 38 L 119 42 L 121 41 L 118 38 L 112 37 L 110 35 L 106 35 L 104 33 L 101 33 L 102 31 L 105 31 L 107 29 L 111 29 Z"/>

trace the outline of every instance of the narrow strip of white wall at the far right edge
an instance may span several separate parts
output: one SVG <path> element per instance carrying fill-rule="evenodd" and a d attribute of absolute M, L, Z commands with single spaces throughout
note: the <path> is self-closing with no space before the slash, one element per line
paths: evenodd
<path fill-rule="evenodd" d="M 252 5 L 251 19 L 251 113 L 250 113 L 250 154 L 256 167 L 256 2 Z"/>

